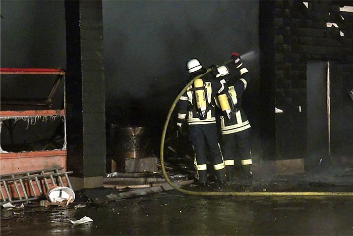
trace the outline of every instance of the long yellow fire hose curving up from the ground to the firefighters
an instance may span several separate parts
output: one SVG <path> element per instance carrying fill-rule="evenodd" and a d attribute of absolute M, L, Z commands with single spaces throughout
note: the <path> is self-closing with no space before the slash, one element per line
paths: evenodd
<path fill-rule="evenodd" d="M 226 64 L 228 62 L 225 62 Z M 175 185 L 170 179 L 169 176 L 167 175 L 164 167 L 164 140 L 165 140 L 165 134 L 168 128 L 169 120 L 171 117 L 171 114 L 174 111 L 175 106 L 177 105 L 179 99 L 183 96 L 183 93 L 188 89 L 188 87 L 194 82 L 195 79 L 198 79 L 202 77 L 203 75 L 211 72 L 211 69 L 208 69 L 204 74 L 198 75 L 182 89 L 182 91 L 179 93 L 178 97 L 175 98 L 174 102 L 172 103 L 169 113 L 167 115 L 167 118 L 164 123 L 164 128 L 162 132 L 162 138 L 160 141 L 160 162 L 161 162 L 161 168 L 163 172 L 163 176 L 166 179 L 166 181 L 169 183 L 170 186 L 172 186 L 175 190 L 182 192 L 184 194 L 190 194 L 190 195 L 201 195 L 201 196 L 353 196 L 353 192 L 229 192 L 229 191 L 224 191 L 224 192 L 199 192 L 199 191 L 190 191 L 190 190 L 184 190 L 183 188 Z"/>

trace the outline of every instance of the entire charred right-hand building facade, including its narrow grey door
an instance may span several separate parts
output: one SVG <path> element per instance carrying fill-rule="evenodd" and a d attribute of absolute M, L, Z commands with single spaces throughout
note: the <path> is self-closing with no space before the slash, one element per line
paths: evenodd
<path fill-rule="evenodd" d="M 352 157 L 352 5 L 260 1 L 264 158 Z"/>

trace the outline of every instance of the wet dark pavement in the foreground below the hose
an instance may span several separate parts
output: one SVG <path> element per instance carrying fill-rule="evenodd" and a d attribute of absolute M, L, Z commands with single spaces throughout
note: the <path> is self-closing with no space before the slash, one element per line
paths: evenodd
<path fill-rule="evenodd" d="M 349 197 L 201 197 L 177 191 L 1 210 L 1 235 L 353 235 Z M 93 222 L 73 225 L 83 216 Z"/>

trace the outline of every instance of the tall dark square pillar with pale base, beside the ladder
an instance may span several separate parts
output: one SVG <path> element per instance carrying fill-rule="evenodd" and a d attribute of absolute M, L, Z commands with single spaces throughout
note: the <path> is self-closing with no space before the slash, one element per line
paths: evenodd
<path fill-rule="evenodd" d="M 65 1 L 68 169 L 75 190 L 106 174 L 102 1 Z"/>

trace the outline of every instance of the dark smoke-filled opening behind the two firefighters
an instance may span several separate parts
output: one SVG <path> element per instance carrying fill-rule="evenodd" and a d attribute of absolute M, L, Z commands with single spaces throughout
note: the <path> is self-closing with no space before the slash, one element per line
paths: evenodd
<path fill-rule="evenodd" d="M 243 103 L 256 127 L 257 1 L 103 1 L 103 23 L 109 123 L 149 126 L 159 141 L 187 59 L 209 66 L 239 52 L 253 75 Z"/>

